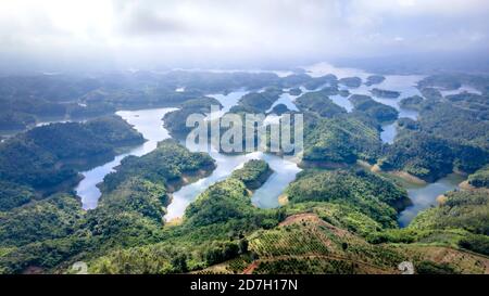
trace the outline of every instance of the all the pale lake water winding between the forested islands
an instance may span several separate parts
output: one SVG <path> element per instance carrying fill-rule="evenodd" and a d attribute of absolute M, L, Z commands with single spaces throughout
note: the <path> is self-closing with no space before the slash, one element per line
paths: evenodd
<path fill-rule="evenodd" d="M 359 76 L 363 79 L 365 79 L 369 75 L 365 72 L 351 68 L 338 69 L 329 65 L 326 66 L 326 68 L 327 70 L 322 68 L 322 66 L 319 65 L 310 69 L 314 70 L 314 73 L 310 74 L 312 76 L 321 76 L 333 73 L 339 78 L 348 76 Z M 422 76 L 386 76 L 386 80 L 380 85 L 373 87 L 361 86 L 358 89 L 349 89 L 349 91 L 352 94 L 358 93 L 368 95 L 371 95 L 369 90 L 374 87 L 400 91 L 402 94 L 399 99 L 373 98 L 378 102 L 391 105 L 399 110 L 400 117 L 410 117 L 416 119 L 417 112 L 400 108 L 399 101 L 405 96 L 419 94 L 414 86 L 416 85 L 417 80 L 422 78 Z M 306 92 L 305 89 L 302 88 L 302 90 Z M 234 105 L 236 105 L 241 96 L 247 93 L 247 91 L 241 90 L 230 92 L 228 94 L 211 94 L 209 96 L 215 98 L 224 106 L 223 110 L 221 110 L 218 114 L 216 114 L 217 116 L 222 116 Z M 285 92 L 280 95 L 277 102 L 274 103 L 273 106 L 283 103 L 287 105 L 289 110 L 297 111 L 297 106 L 293 103 L 296 99 L 296 95 L 290 95 L 289 93 Z M 331 100 L 338 105 L 344 107 L 347 111 L 351 112 L 352 105 L 347 98 L 333 95 Z M 97 188 L 97 184 L 103 181 L 105 175 L 114 171 L 114 168 L 121 164 L 121 160 L 124 157 L 128 155 L 145 155 L 153 151 L 156 147 L 158 142 L 170 138 L 168 132 L 163 128 L 162 118 L 166 113 L 173 110 L 174 108 L 155 108 L 117 112 L 117 115 L 133 125 L 135 129 L 141 132 L 145 139 L 147 139 L 148 141 L 142 145 L 130 150 L 128 153 L 116 156 L 110 163 L 82 172 L 85 178 L 80 181 L 75 190 L 77 195 L 82 197 L 83 207 L 85 209 L 97 207 L 98 200 L 101 194 L 99 189 Z M 268 123 L 276 123 L 278 118 L 278 116 L 268 115 L 267 120 Z M 392 143 L 396 138 L 396 123 L 386 125 L 383 127 L 383 129 L 384 131 L 380 134 L 381 140 L 386 143 Z M 195 183 L 185 185 L 173 194 L 173 201 L 167 207 L 167 215 L 165 216 L 166 220 L 181 217 L 187 206 L 192 201 L 195 201 L 200 193 L 202 193 L 206 188 L 214 184 L 215 182 L 226 179 L 235 169 L 242 167 L 242 165 L 250 159 L 264 159 L 274 170 L 274 173 L 263 184 L 263 186 L 261 186 L 253 193 L 252 203 L 261 208 L 278 207 L 278 196 L 284 192 L 287 185 L 294 180 L 296 175 L 301 170 L 293 162 L 260 152 L 246 155 L 225 155 L 216 151 L 210 151 L 209 153 L 211 157 L 213 157 L 216 162 L 216 169 L 209 177 L 200 179 Z M 438 182 L 430 183 L 424 186 L 408 188 L 409 196 L 413 201 L 414 205 L 406 208 L 400 214 L 400 224 L 406 226 L 419 210 L 436 204 L 436 197 L 438 195 L 455 189 L 460 181 L 462 181 L 460 177 L 449 176 L 439 180 Z"/>

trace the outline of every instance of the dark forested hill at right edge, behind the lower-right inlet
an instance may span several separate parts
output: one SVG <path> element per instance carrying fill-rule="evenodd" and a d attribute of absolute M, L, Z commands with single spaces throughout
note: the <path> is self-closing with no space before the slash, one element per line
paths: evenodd
<path fill-rule="evenodd" d="M 398 140 L 386 150 L 380 167 L 404 170 L 427 181 L 452 170 L 472 173 L 484 167 L 489 162 L 489 126 L 485 108 L 467 107 L 471 100 L 468 94 L 451 101 L 405 99 L 405 104 L 419 110 L 419 119 L 399 123 Z M 482 177 L 484 170 L 479 173 L 475 176 Z"/>

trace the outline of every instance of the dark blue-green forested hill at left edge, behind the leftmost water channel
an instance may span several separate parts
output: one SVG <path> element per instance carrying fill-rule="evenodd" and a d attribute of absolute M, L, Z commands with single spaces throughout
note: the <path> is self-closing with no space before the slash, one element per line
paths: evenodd
<path fill-rule="evenodd" d="M 142 142 L 140 133 L 115 116 L 28 130 L 0 144 L 0 180 L 5 184 L 0 204 L 2 208 L 25 204 L 33 190 L 49 195 L 76 182 L 79 169 L 114 157 L 116 149 Z"/>

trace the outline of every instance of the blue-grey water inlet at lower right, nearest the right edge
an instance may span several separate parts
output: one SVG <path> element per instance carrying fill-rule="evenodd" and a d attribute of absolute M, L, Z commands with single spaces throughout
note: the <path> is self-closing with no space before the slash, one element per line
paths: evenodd
<path fill-rule="evenodd" d="M 406 227 L 421 210 L 436 205 L 439 195 L 457 189 L 463 180 L 464 178 L 462 176 L 452 173 L 435 183 L 422 186 L 409 186 L 408 195 L 413 202 L 413 205 L 401 211 L 398 219 L 399 224 Z"/>

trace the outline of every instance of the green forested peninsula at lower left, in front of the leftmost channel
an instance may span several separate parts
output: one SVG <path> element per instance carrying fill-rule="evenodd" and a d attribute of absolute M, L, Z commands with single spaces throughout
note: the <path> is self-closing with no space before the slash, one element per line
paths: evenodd
<path fill-rule="evenodd" d="M 1 214 L 0 236 L 14 248 L 0 258 L 0 270 L 51 270 L 77 258 L 156 243 L 164 235 L 170 182 L 204 168 L 213 168 L 208 155 L 164 141 L 148 155 L 123 160 L 102 184 L 93 210 L 84 214 L 73 196 L 54 195 Z"/>

